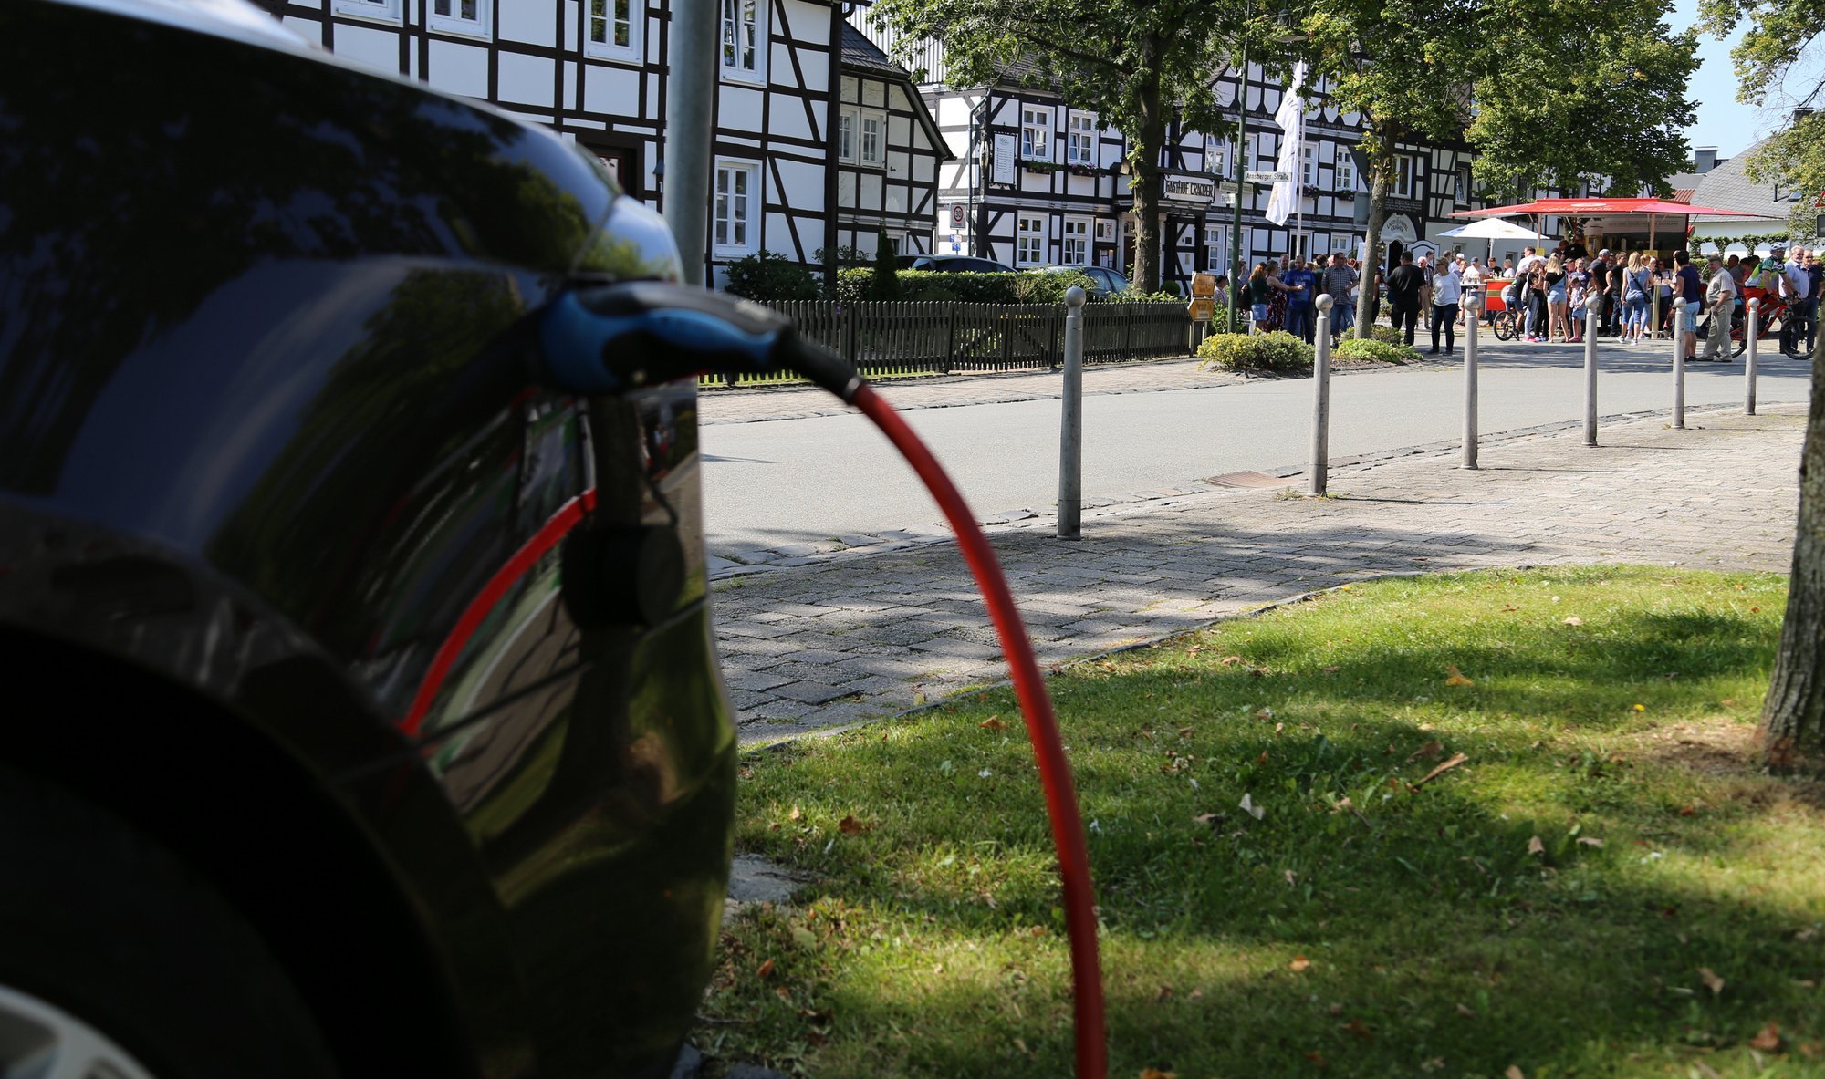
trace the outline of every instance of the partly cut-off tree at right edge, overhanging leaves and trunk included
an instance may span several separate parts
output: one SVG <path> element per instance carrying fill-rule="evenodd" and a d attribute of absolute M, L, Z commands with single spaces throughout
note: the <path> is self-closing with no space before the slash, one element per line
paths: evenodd
<path fill-rule="evenodd" d="M 1816 49 L 1825 0 L 1705 0 L 1706 27 L 1719 36 L 1748 20 L 1730 51 L 1747 104 L 1812 106 L 1825 93 Z M 1796 118 L 1747 162 L 1752 180 L 1825 190 L 1825 120 Z M 1812 230 L 1807 228 L 1807 233 Z M 1812 410 L 1799 456 L 1799 523 L 1787 616 L 1774 653 L 1774 678 L 1761 705 L 1761 760 L 1787 771 L 1825 758 L 1825 352 L 1812 354 Z"/>

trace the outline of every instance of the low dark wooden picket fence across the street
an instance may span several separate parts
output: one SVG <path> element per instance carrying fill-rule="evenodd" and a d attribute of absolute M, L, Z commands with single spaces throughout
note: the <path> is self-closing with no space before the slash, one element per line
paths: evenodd
<path fill-rule="evenodd" d="M 931 301 L 790 301 L 768 304 L 798 332 L 856 365 L 867 379 L 1064 365 L 1064 304 Z M 1084 304 L 1084 363 L 1190 354 L 1177 303 Z M 790 375 L 735 375 L 704 385 L 761 386 Z"/>

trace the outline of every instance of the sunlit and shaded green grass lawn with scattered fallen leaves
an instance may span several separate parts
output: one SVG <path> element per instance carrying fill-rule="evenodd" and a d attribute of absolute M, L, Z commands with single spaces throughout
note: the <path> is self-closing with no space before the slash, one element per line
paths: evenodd
<path fill-rule="evenodd" d="M 1825 791 L 1748 744 L 1783 603 L 1652 567 L 1387 580 L 1053 676 L 1111 1075 L 1825 1075 Z M 743 775 L 737 844 L 810 884 L 725 935 L 706 1052 L 1069 1074 L 1009 693 Z"/>

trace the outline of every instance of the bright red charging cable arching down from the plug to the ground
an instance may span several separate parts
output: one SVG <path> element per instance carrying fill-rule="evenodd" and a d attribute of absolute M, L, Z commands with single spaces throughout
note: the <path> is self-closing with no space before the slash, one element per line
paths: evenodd
<path fill-rule="evenodd" d="M 1033 658 L 1033 643 L 1007 591 L 1002 563 L 995 558 L 987 536 L 976 525 L 962 492 L 951 483 L 944 465 L 925 448 L 907 421 L 894 412 L 867 383 L 852 390 L 850 403 L 874 421 L 894 448 L 925 481 L 944 516 L 956 532 L 956 545 L 976 578 L 995 632 L 1002 640 L 1002 654 L 1013 673 L 1020 714 L 1026 718 L 1027 738 L 1038 762 L 1038 782 L 1046 789 L 1046 815 L 1051 818 L 1051 842 L 1058 849 L 1058 877 L 1064 880 L 1064 928 L 1071 940 L 1071 1008 L 1077 1019 L 1077 1077 L 1104 1079 L 1110 1070 L 1110 1052 L 1102 1028 L 1102 970 L 1097 959 L 1097 909 L 1090 888 L 1090 851 L 1084 846 L 1084 820 L 1077 811 L 1077 793 L 1071 786 L 1071 764 L 1064 758 L 1058 738 L 1058 718 L 1051 711 L 1051 694 Z"/>

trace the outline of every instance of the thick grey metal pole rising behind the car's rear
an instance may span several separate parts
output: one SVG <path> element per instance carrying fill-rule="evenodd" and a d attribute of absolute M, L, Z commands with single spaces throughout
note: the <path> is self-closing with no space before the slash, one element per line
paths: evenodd
<path fill-rule="evenodd" d="M 664 217 L 679 244 L 684 284 L 704 284 L 710 230 L 710 146 L 715 129 L 715 73 L 723 5 L 694 0 L 672 7 L 666 75 Z M 750 191 L 759 206 L 759 191 Z M 759 213 L 754 221 L 759 221 Z M 752 228 L 752 226 L 750 226 Z"/>

